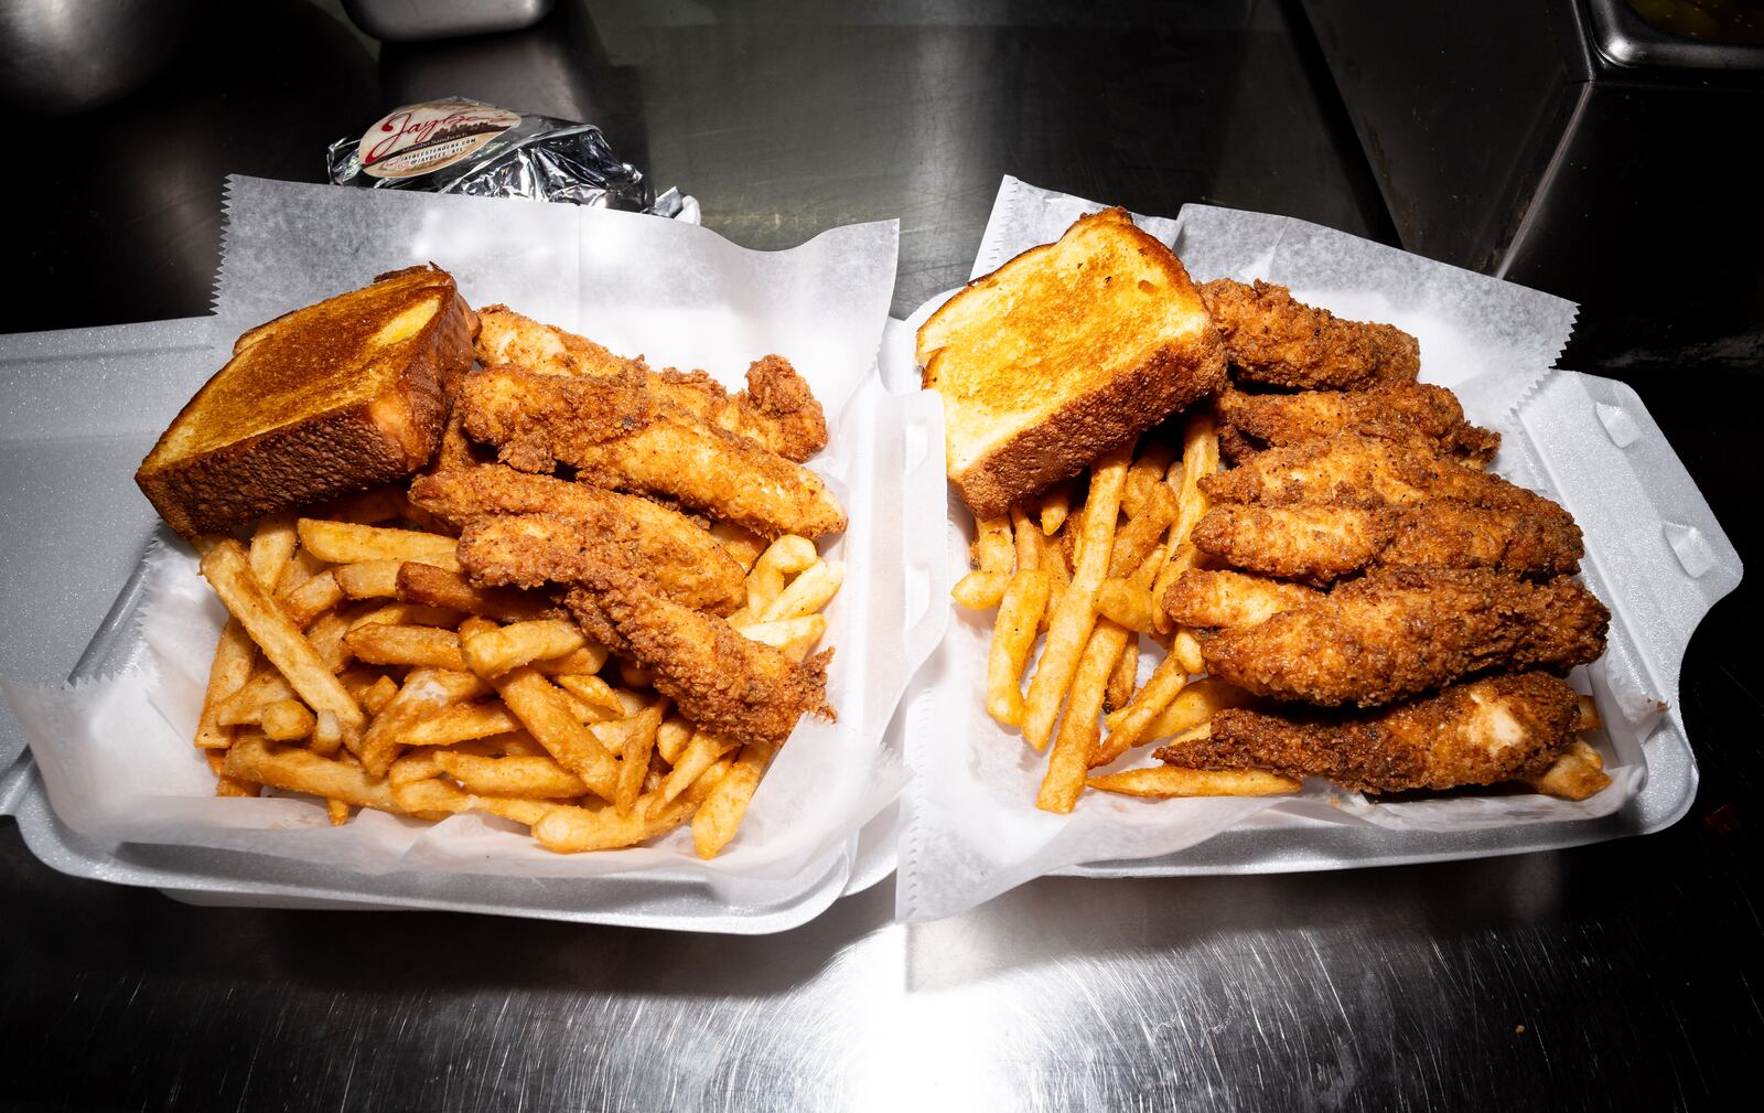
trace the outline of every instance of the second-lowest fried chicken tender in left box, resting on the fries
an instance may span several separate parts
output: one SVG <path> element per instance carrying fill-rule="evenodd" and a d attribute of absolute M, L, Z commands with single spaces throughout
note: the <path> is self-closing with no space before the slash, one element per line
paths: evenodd
<path fill-rule="evenodd" d="M 660 506 L 654 510 L 672 513 Z M 713 614 L 739 610 L 746 601 L 741 564 L 707 531 L 681 520 L 681 529 L 658 533 L 619 510 L 594 519 L 564 513 L 485 515 L 466 520 L 459 536 L 459 563 L 480 587 L 575 584 L 591 568 L 616 564 L 686 607 Z M 681 543 L 683 538 L 693 540 Z"/>

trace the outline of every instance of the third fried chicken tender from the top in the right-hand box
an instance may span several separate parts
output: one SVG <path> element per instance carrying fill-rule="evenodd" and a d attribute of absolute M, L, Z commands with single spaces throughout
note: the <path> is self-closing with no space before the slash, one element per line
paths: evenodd
<path fill-rule="evenodd" d="M 1418 437 L 1344 429 L 1316 441 L 1258 452 L 1201 478 L 1214 503 L 1261 506 L 1381 506 L 1457 499 L 1469 506 L 1535 510 L 1542 496 L 1498 474 L 1462 467 Z"/>

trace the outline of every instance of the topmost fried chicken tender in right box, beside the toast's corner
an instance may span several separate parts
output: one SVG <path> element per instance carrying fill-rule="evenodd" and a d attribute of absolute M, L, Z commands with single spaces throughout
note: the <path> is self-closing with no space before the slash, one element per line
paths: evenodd
<path fill-rule="evenodd" d="M 1215 279 L 1201 300 L 1224 337 L 1231 377 L 1302 390 L 1367 390 L 1413 381 L 1420 344 L 1394 325 L 1342 321 L 1295 302 L 1284 286 Z"/>

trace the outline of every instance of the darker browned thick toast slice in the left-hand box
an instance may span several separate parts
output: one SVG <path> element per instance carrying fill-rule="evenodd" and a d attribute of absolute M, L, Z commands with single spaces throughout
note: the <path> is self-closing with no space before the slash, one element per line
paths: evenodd
<path fill-rule="evenodd" d="M 407 476 L 441 443 L 476 317 L 436 266 L 252 328 L 134 482 L 185 538 Z"/>

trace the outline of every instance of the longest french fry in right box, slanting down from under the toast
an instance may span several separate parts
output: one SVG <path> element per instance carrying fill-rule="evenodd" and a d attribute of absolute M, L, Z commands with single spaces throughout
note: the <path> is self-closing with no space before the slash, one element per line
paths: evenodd
<path fill-rule="evenodd" d="M 1041 663 L 1028 683 L 1023 709 L 1023 739 L 1035 750 L 1048 746 L 1053 720 L 1060 714 L 1060 702 L 1073 683 L 1073 674 L 1078 672 L 1078 658 L 1095 628 L 1095 591 L 1108 570 L 1115 519 L 1120 515 L 1120 490 L 1127 482 L 1129 453 L 1131 446 L 1117 448 L 1101 457 L 1090 471 L 1090 497 L 1085 501 L 1083 520 L 1085 542 L 1078 568 L 1073 571 L 1073 584 L 1065 589 L 1058 610 L 1048 623 L 1048 644 L 1043 647 Z"/>

